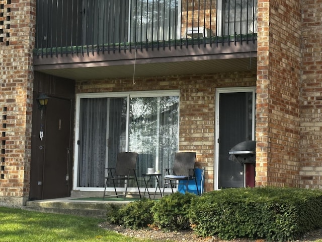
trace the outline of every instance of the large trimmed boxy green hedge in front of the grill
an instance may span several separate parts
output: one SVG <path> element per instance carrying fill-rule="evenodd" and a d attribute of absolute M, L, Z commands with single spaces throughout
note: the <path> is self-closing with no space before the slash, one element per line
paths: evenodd
<path fill-rule="evenodd" d="M 322 227 L 322 191 L 241 188 L 205 193 L 189 214 L 198 235 L 291 240 Z"/>

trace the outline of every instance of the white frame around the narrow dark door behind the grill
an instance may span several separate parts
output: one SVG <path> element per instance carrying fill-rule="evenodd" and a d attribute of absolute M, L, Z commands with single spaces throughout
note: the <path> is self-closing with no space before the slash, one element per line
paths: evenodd
<path fill-rule="evenodd" d="M 221 93 L 237 93 L 237 92 L 253 92 L 253 113 L 252 113 L 252 140 L 255 140 L 255 111 L 256 111 L 256 87 L 224 87 L 224 88 L 216 88 L 215 92 L 215 139 L 214 139 L 214 190 L 219 190 L 219 96 Z M 244 166 L 244 174 L 245 174 L 245 166 Z M 244 175 L 244 184 L 245 184 L 245 175 Z"/>

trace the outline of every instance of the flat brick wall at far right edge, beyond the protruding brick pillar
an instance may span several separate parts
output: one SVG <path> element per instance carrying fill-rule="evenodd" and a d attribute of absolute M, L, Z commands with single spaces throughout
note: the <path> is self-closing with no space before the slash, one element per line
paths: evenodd
<path fill-rule="evenodd" d="M 322 189 L 322 3 L 302 1 L 300 185 Z"/>

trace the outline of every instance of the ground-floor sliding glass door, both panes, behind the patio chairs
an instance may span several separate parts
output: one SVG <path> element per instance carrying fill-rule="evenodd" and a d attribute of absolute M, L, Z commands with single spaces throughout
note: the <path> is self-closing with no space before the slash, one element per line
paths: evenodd
<path fill-rule="evenodd" d="M 99 95 L 99 94 L 98 94 Z M 137 174 L 147 167 L 164 172 L 178 151 L 179 94 L 125 93 L 77 96 L 74 187 L 103 188 L 105 168 L 118 152 L 137 152 Z M 143 187 L 141 181 L 140 184 Z M 118 184 L 123 188 L 124 184 Z"/>

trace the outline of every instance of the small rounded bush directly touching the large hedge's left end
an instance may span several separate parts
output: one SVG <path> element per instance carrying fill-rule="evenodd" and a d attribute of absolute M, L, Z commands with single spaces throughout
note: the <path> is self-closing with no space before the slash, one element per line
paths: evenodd
<path fill-rule="evenodd" d="M 188 214 L 191 200 L 196 196 L 191 193 L 174 193 L 163 197 L 152 208 L 154 224 L 169 230 L 190 228 Z"/>

